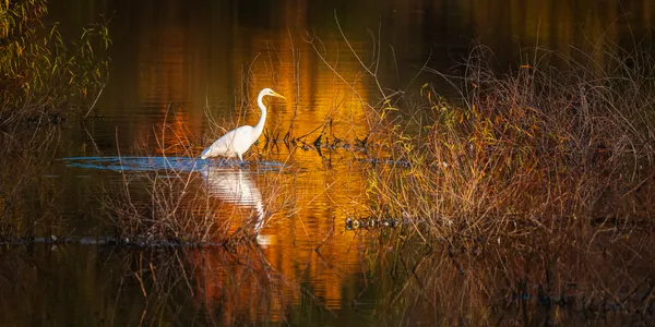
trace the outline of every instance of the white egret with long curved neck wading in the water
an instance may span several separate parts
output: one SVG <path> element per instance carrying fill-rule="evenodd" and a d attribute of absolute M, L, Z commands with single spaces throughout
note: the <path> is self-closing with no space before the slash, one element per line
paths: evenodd
<path fill-rule="evenodd" d="M 266 122 L 266 107 L 262 101 L 265 96 L 273 96 L 286 98 L 271 88 L 264 88 L 260 90 L 259 96 L 257 97 L 257 106 L 260 107 L 262 111 L 262 116 L 260 117 L 257 125 L 243 125 L 237 129 L 234 129 L 227 132 L 225 135 L 221 136 L 221 138 L 216 140 L 210 147 L 205 148 L 200 157 L 202 159 L 212 158 L 212 157 L 227 157 L 231 158 L 238 156 L 241 161 L 243 161 L 243 153 L 246 153 L 250 146 L 262 135 L 262 131 L 264 130 L 264 123 Z"/>

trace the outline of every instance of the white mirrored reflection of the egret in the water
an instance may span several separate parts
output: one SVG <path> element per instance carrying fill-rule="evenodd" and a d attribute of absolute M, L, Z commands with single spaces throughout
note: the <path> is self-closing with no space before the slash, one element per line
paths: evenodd
<path fill-rule="evenodd" d="M 219 169 L 207 166 L 202 170 L 202 179 L 211 196 L 255 210 L 257 216 L 252 227 L 253 232 L 257 234 L 257 242 L 261 245 L 267 245 L 269 238 L 260 234 L 265 222 L 262 193 L 249 173 L 241 169 Z"/>

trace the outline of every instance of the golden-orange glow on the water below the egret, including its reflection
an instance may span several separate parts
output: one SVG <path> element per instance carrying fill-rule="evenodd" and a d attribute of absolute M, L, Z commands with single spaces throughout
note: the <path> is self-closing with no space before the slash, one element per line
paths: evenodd
<path fill-rule="evenodd" d="M 271 312 L 261 312 L 261 307 L 253 310 L 252 306 L 261 302 L 247 293 L 261 295 L 262 290 L 258 288 L 266 288 L 265 296 L 270 296 L 266 301 L 271 302 L 266 307 L 285 311 L 288 304 L 300 304 L 299 286 L 309 282 L 313 295 L 321 299 L 325 307 L 341 308 L 344 288 L 357 287 L 348 277 L 361 272 L 365 245 L 343 228 L 347 208 L 355 210 L 366 202 L 362 180 L 354 170 L 344 167 L 333 172 L 257 173 L 214 168 L 202 171 L 210 195 L 229 204 L 218 206 L 216 219 L 230 219 L 231 233 L 247 230 L 257 235 L 259 246 L 255 250 L 238 247 L 231 261 L 226 261 L 223 251 L 198 254 L 192 261 L 202 266 L 199 293 L 204 294 L 209 303 L 229 301 L 235 312 L 253 311 L 275 319 Z M 229 268 L 226 263 L 230 263 Z M 229 276 L 225 275 L 226 269 L 231 269 Z M 233 275 L 240 278 L 237 289 L 231 284 Z M 274 286 L 270 286 L 272 275 L 277 276 Z M 226 292 L 233 295 L 226 299 Z M 227 310 L 224 316 L 227 318 L 235 312 Z"/>

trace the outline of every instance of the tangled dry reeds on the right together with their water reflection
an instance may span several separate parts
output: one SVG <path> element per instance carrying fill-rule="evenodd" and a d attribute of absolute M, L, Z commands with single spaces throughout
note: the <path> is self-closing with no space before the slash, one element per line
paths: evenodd
<path fill-rule="evenodd" d="M 534 48 L 500 71 L 478 45 L 463 76 L 424 68 L 458 98 L 425 84 L 389 99 L 388 157 L 367 170 L 371 219 L 402 222 L 371 250 L 380 311 L 402 325 L 652 318 L 655 58 L 580 55 Z"/>

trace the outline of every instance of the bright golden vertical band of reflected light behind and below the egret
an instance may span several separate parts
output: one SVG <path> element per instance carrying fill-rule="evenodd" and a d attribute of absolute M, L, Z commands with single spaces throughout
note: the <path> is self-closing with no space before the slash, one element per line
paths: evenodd
<path fill-rule="evenodd" d="M 337 46 L 346 48 L 343 43 L 334 47 Z M 354 46 L 362 50 L 361 44 Z M 243 48 L 248 49 L 249 55 L 242 52 Z M 259 110 L 252 99 L 262 87 L 271 86 L 288 100 L 269 102 L 269 135 L 282 138 L 293 121 L 293 136 L 310 135 L 308 140 L 312 142 L 322 132 L 321 125 L 331 117 L 336 122 L 331 133 L 341 138 L 362 138 L 368 133 L 368 122 L 360 102 L 369 100 L 366 78 L 361 77 L 361 68 L 353 58 L 342 53 L 337 64 L 337 72 L 349 83 L 346 86 L 344 81 L 335 78 L 332 70 L 311 55 L 313 50 L 309 44 L 291 39 L 286 31 L 262 34 L 250 39 L 248 45 L 235 49 L 238 53 L 233 56 L 234 84 L 241 83 L 240 78 L 248 78 L 250 84 L 246 94 L 251 101 L 246 101 L 243 108 L 235 109 L 235 112 L 245 112 L 246 118 L 235 119 L 234 124 L 226 129 L 243 123 L 255 124 Z M 241 73 L 245 66 L 249 70 L 246 76 Z M 230 172 L 230 178 L 226 178 L 222 171 L 214 171 L 206 178 L 211 194 L 223 201 L 227 197 L 239 198 L 231 201 L 233 204 L 251 208 L 248 213 L 223 206 L 227 211 L 218 213 L 217 219 L 230 217 L 231 232 L 243 227 L 257 232 L 258 242 L 262 245 L 264 259 L 257 252 L 252 254 L 257 257 L 241 258 L 243 262 L 262 264 L 248 268 L 250 275 L 243 271 L 236 274 L 247 277 L 238 299 L 229 300 L 234 301 L 230 305 L 236 306 L 236 312 L 258 313 L 273 320 L 279 318 L 271 315 L 276 312 L 274 308 L 283 314 L 288 304 L 300 304 L 302 294 L 298 286 L 307 281 L 311 284 L 312 294 L 321 299 L 325 307 L 341 308 L 344 288 L 356 288 L 356 284 L 347 281 L 348 276 L 361 272 L 360 240 L 355 239 L 353 233 L 344 232 L 343 221 L 348 213 L 357 210 L 367 199 L 366 189 L 362 187 L 366 182 L 364 174 L 360 169 L 352 167 L 354 157 L 350 153 L 341 154 L 343 164 L 336 159 L 337 162 L 325 170 L 326 159 L 315 150 L 296 149 L 289 154 L 284 145 L 279 146 L 282 149 L 266 153 L 264 159 L 293 165 L 288 171 L 251 173 L 239 170 L 237 173 Z M 251 162 L 257 160 L 252 155 L 247 158 Z M 257 217 L 254 226 L 253 217 Z M 201 293 L 205 294 L 209 302 L 223 299 L 226 284 L 229 283 L 225 276 L 212 275 L 211 271 L 222 269 L 225 265 L 222 254 L 216 254 L 218 257 L 212 255 L 205 253 L 201 274 L 204 280 L 204 292 Z M 258 288 L 271 282 L 266 279 L 269 270 L 276 271 L 284 279 L 275 287 L 276 292 L 285 295 L 272 296 L 269 304 L 272 312 L 261 312 L 253 308 L 251 294 L 261 294 Z M 233 314 L 228 308 L 224 316 Z"/>

